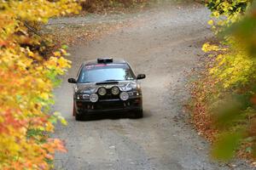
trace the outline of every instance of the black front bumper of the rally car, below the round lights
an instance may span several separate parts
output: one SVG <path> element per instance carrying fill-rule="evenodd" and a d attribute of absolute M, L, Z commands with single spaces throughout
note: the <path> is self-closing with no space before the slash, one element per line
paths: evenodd
<path fill-rule="evenodd" d="M 142 110 L 143 98 L 137 96 L 127 101 L 121 99 L 100 99 L 96 103 L 92 103 L 88 100 L 76 100 L 75 109 L 78 114 Z"/>

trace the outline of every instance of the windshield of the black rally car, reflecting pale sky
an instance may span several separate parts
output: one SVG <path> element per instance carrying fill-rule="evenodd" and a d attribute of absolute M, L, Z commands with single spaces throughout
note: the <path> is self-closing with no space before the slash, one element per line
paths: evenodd
<path fill-rule="evenodd" d="M 79 75 L 79 83 L 133 80 L 135 76 L 129 65 L 85 65 Z"/>

